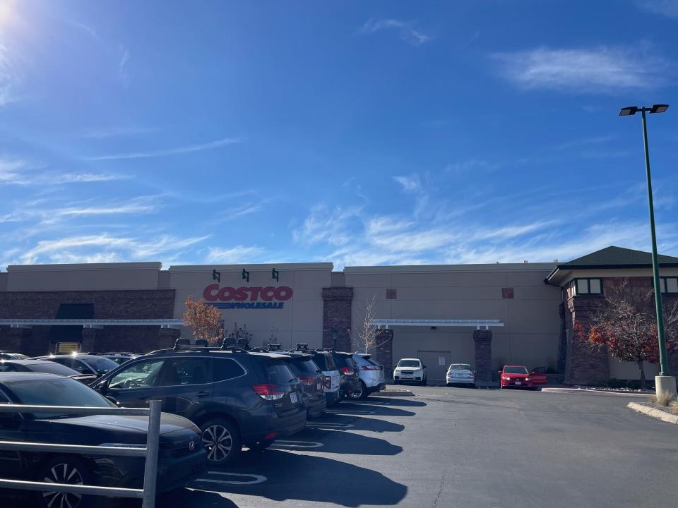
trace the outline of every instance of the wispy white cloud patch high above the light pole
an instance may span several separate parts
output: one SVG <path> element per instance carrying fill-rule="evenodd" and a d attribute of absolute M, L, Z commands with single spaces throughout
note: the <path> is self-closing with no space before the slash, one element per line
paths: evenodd
<path fill-rule="evenodd" d="M 659 87 L 672 63 L 649 48 L 595 47 L 496 53 L 492 59 L 504 78 L 525 89 L 614 93 Z"/>

